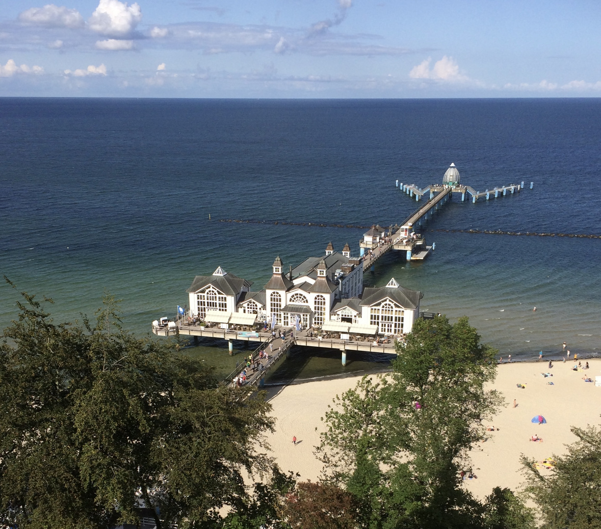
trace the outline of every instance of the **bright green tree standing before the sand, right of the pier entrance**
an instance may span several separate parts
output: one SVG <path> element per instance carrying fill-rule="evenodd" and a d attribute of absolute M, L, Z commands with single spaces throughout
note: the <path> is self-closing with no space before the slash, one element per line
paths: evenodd
<path fill-rule="evenodd" d="M 472 443 L 501 397 L 496 351 L 468 318 L 416 320 L 391 374 L 364 377 L 326 413 L 318 453 L 364 506 L 368 527 L 470 527 L 482 506 L 461 486 Z"/>

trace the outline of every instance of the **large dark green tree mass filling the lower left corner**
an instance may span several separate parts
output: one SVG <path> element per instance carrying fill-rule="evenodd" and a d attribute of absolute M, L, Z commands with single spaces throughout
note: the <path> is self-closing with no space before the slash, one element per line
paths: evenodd
<path fill-rule="evenodd" d="M 111 296 L 92 326 L 22 295 L 0 344 L 0 524 L 111 527 L 142 501 L 158 527 L 210 527 L 248 504 L 243 470 L 270 468 L 263 398 L 124 331 Z"/>

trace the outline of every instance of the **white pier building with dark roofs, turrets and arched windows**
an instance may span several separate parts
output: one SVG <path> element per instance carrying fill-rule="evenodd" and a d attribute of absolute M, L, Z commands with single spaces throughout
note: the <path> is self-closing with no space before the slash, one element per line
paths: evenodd
<path fill-rule="evenodd" d="M 340 269 L 337 268 L 340 266 Z M 221 267 L 212 276 L 196 276 L 188 289 L 191 315 L 204 318 L 207 310 L 257 314 L 257 321 L 303 329 L 328 321 L 377 326 L 386 335 L 410 332 L 419 315 L 421 293 L 401 287 L 392 278 L 385 287 L 363 288 L 363 266 L 332 251 L 308 258 L 296 276 L 283 273 L 279 257 L 264 290 L 252 292 L 251 283 Z M 299 270 L 303 270 L 299 272 Z"/>

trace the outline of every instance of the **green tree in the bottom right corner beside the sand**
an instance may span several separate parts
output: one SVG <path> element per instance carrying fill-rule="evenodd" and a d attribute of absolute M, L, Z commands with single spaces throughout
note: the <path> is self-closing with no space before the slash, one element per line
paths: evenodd
<path fill-rule="evenodd" d="M 553 456 L 551 473 L 543 476 L 534 460 L 522 458 L 544 529 L 601 527 L 601 429 L 572 427 L 572 433 L 578 441 Z"/>

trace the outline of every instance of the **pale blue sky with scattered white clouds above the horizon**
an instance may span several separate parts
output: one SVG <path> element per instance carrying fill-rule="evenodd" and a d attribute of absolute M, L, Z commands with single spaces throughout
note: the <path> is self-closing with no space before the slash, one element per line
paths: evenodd
<path fill-rule="evenodd" d="M 601 97 L 600 0 L 2 0 L 0 97 Z"/>

